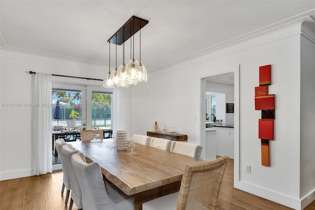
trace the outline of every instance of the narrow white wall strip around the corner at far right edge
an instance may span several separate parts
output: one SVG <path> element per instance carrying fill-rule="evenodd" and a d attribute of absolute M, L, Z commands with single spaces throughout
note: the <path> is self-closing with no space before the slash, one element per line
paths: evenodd
<path fill-rule="evenodd" d="M 311 29 L 311 31 L 310 31 Z M 301 35 L 301 191 L 303 207 L 315 199 L 315 23 L 305 21 Z M 296 109 L 298 111 L 298 109 Z"/>

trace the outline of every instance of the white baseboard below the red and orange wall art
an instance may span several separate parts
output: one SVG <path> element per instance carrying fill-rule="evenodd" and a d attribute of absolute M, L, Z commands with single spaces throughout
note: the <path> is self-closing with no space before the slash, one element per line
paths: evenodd
<path fill-rule="evenodd" d="M 279 194 L 279 193 L 274 192 L 274 191 L 263 189 L 263 188 L 260 188 L 260 187 L 254 186 L 252 184 L 242 182 L 242 181 L 234 182 L 234 187 L 237 189 L 243 190 L 245 192 L 254 194 L 256 196 L 259 196 L 261 198 L 265 198 L 267 200 L 270 200 L 270 201 L 276 202 L 278 204 L 284 205 L 284 206 L 289 207 L 291 209 L 301 210 L 301 204 L 302 204 L 301 200 L 298 200 L 298 199 L 295 199 L 292 197 L 288 197 L 286 195 Z M 312 200 L 312 199 L 309 199 L 309 200 Z"/>

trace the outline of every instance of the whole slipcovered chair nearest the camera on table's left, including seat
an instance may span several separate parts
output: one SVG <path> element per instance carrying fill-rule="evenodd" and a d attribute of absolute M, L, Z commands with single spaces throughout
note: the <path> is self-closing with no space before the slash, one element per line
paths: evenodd
<path fill-rule="evenodd" d="M 79 152 L 72 155 L 72 166 L 80 188 L 84 189 L 85 210 L 134 210 L 133 196 L 127 196 L 109 181 L 104 184 L 98 163 L 86 163 L 84 154 Z"/>

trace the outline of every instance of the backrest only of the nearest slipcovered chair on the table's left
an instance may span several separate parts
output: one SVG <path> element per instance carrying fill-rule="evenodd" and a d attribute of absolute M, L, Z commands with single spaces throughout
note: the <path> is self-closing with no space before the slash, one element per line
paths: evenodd
<path fill-rule="evenodd" d="M 98 163 L 86 163 L 84 154 L 72 156 L 72 166 L 82 190 L 82 204 L 86 210 L 112 209 L 116 204 L 107 194 Z"/>

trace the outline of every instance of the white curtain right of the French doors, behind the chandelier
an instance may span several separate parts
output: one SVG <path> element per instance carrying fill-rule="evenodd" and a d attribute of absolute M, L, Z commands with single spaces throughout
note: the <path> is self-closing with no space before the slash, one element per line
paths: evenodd
<path fill-rule="evenodd" d="M 127 137 L 131 137 L 130 88 L 114 88 L 113 90 L 113 133 L 126 130 Z"/>

